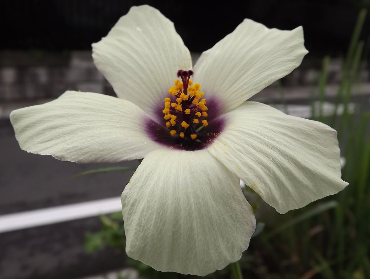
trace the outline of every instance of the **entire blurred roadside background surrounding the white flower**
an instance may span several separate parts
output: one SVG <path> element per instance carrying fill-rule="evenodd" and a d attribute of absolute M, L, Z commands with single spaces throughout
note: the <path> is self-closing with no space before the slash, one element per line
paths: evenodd
<path fill-rule="evenodd" d="M 29 154 L 9 121 L 12 110 L 66 90 L 114 95 L 91 43 L 140 4 L 174 22 L 193 63 L 244 18 L 303 26 L 310 52 L 302 65 L 252 99 L 335 128 L 350 185 L 285 215 L 244 188 L 259 208 L 258 229 L 240 265 L 245 278 L 370 278 L 368 0 L 0 0 L 0 278 L 196 277 L 156 272 L 125 255 L 114 212 L 137 161 L 78 165 Z M 208 278 L 230 278 L 230 270 Z"/>

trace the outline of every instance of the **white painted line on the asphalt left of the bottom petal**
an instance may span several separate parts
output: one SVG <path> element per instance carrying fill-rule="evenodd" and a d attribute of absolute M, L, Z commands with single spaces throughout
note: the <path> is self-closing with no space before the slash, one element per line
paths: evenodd
<path fill-rule="evenodd" d="M 0 233 L 121 211 L 121 197 L 0 215 Z"/>

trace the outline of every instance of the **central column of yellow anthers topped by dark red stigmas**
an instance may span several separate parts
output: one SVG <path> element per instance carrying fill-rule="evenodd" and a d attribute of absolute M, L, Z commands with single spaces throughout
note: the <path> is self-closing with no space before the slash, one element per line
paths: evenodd
<path fill-rule="evenodd" d="M 182 139 L 197 139 L 197 133 L 208 125 L 206 99 L 204 93 L 200 91 L 199 83 L 193 84 L 190 79 L 194 75 L 192 70 L 178 70 L 177 77 L 181 81 L 175 80 L 174 86 L 169 88 L 170 97 L 164 99 L 164 119 L 169 134 L 172 137 Z"/>

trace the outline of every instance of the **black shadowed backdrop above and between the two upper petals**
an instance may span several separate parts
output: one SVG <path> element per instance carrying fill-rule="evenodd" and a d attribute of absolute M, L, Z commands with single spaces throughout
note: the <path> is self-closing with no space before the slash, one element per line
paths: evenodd
<path fill-rule="evenodd" d="M 369 0 L 125 1 L 1 0 L 0 49 L 87 50 L 131 6 L 149 4 L 175 23 L 192 52 L 212 47 L 244 18 L 267 27 L 302 25 L 310 55 L 344 56 L 358 12 Z M 367 18 L 361 38 L 370 33 Z"/>

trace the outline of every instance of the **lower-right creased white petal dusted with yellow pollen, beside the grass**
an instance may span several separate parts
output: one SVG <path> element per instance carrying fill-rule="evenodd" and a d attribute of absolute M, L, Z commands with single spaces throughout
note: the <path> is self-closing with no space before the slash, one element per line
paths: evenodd
<path fill-rule="evenodd" d="M 209 152 L 279 213 L 341 191 L 337 133 L 258 102 L 228 112 Z"/>

